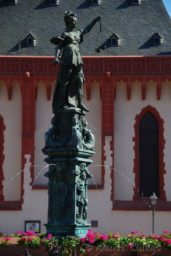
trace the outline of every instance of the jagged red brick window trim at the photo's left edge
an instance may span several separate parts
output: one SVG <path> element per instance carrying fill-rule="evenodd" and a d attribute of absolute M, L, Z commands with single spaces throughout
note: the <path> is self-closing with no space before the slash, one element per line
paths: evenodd
<path fill-rule="evenodd" d="M 3 180 L 4 180 L 4 172 L 3 172 L 3 163 L 5 159 L 4 152 L 4 118 L 0 115 L 0 201 L 4 201 L 3 195 Z"/>

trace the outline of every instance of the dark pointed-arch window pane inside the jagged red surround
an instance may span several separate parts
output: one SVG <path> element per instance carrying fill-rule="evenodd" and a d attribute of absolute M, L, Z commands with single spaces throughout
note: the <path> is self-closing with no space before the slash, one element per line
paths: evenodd
<path fill-rule="evenodd" d="M 140 121 L 140 196 L 159 196 L 159 123 L 147 112 Z"/>

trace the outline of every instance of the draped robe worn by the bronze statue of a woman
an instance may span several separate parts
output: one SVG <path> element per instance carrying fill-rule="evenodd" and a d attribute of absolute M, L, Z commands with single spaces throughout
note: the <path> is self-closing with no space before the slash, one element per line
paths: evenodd
<path fill-rule="evenodd" d="M 75 107 L 78 83 L 84 83 L 83 61 L 79 53 L 79 44 L 83 42 L 83 32 L 64 32 L 60 39 L 64 41 L 60 71 L 53 93 L 52 109 L 57 111 L 63 105 Z"/>

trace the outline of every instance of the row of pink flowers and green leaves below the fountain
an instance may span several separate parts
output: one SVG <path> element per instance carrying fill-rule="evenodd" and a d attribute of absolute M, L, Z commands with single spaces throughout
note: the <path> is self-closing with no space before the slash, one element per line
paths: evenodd
<path fill-rule="evenodd" d="M 151 234 L 146 238 L 144 233 L 138 233 L 137 230 L 132 231 L 125 237 L 119 233 L 101 235 L 88 230 L 86 237 L 68 236 L 63 238 L 62 243 L 58 246 L 58 240 L 52 234 L 41 234 L 35 237 L 33 231 L 28 231 L 27 233 L 18 231 L 16 234 L 1 235 L 0 245 L 0 255 L 5 256 L 22 255 L 24 254 L 25 246 L 28 246 L 28 251 L 32 256 L 46 256 L 50 255 L 50 253 L 69 256 L 72 255 L 74 248 L 76 248 L 77 256 L 171 256 L 171 233 L 165 230 L 160 237 Z"/>

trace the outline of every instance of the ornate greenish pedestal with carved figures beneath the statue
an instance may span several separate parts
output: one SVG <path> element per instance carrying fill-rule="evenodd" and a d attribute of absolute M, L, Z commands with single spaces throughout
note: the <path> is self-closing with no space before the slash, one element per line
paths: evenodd
<path fill-rule="evenodd" d="M 89 157 L 95 154 L 95 138 L 87 129 L 84 112 L 79 109 L 61 110 L 54 113 L 52 128 L 45 133 L 48 158 L 49 206 L 47 233 L 61 239 L 71 235 L 87 234 L 87 178 L 92 174 Z"/>

